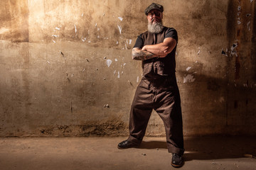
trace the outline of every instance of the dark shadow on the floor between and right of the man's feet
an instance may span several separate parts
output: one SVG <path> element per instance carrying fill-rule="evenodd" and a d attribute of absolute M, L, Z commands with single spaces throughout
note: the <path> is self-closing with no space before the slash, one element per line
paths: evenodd
<path fill-rule="evenodd" d="M 256 158 L 256 137 L 185 137 L 185 161 Z M 140 149 L 167 149 L 166 142 L 144 141 Z"/>

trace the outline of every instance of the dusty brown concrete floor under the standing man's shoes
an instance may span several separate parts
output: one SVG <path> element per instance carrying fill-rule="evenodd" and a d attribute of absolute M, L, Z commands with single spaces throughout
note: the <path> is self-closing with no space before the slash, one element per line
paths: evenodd
<path fill-rule="evenodd" d="M 0 169 L 174 169 L 164 137 L 117 149 L 127 137 L 0 138 Z M 255 137 L 185 137 L 181 169 L 256 169 Z"/>

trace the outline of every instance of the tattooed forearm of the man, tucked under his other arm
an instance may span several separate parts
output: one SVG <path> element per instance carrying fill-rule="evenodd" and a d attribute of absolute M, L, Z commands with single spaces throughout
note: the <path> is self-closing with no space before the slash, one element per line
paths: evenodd
<path fill-rule="evenodd" d="M 141 50 L 137 47 L 132 49 L 133 60 L 149 60 L 154 57 L 158 57 L 158 55 L 154 55 L 152 52 Z"/>

